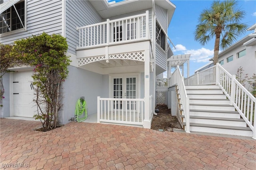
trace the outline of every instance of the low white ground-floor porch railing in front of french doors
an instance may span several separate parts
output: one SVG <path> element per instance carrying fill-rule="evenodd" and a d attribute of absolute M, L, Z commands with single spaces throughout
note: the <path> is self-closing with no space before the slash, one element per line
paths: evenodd
<path fill-rule="evenodd" d="M 97 107 L 97 122 L 143 125 L 144 99 L 100 98 L 98 96 Z"/>

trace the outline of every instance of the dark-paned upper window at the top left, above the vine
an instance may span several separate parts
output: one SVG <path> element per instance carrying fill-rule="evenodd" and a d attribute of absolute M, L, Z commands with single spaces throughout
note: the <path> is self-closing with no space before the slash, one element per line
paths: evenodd
<path fill-rule="evenodd" d="M 15 8 L 17 10 L 15 10 Z M 25 25 L 25 2 L 14 4 L 9 9 L 5 10 L 0 15 L 0 33 L 7 33 Z"/>

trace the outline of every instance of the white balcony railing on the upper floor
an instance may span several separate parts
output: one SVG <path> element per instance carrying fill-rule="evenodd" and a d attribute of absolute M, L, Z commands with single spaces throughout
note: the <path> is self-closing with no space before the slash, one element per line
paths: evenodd
<path fill-rule="evenodd" d="M 140 41 L 150 38 L 149 15 L 135 15 L 116 20 L 109 20 L 83 27 L 79 31 L 79 45 L 77 49 L 97 47 Z"/>

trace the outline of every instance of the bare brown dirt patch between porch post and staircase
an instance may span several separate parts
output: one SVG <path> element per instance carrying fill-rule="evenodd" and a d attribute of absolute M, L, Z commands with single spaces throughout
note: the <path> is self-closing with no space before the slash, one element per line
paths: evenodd
<path fill-rule="evenodd" d="M 165 104 L 160 104 L 156 106 L 156 109 L 159 109 L 159 113 L 153 116 L 153 120 L 151 123 L 151 129 L 159 130 L 162 129 L 164 131 L 173 131 L 174 128 L 182 129 L 176 116 L 172 116 L 171 109 Z"/>

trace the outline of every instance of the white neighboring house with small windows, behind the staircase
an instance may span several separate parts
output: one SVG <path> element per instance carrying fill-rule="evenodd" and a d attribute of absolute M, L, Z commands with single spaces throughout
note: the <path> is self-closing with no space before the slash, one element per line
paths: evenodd
<path fill-rule="evenodd" d="M 256 74 L 256 23 L 249 27 L 247 31 L 254 31 L 254 33 L 246 35 L 228 49 L 220 52 L 218 62 L 230 74 L 237 74 L 237 70 L 241 66 L 244 70 L 243 74 L 252 77 L 253 74 Z M 212 62 L 202 66 L 195 73 L 211 66 L 213 66 Z"/>

